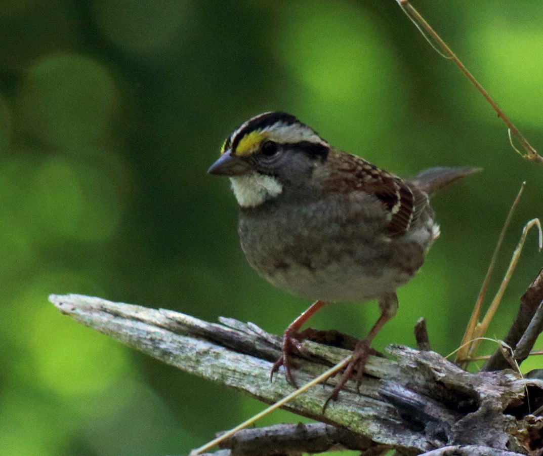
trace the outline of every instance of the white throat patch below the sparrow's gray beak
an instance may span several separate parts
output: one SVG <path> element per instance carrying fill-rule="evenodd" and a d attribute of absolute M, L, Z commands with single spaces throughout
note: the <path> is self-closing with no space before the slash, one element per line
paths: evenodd
<path fill-rule="evenodd" d="M 230 178 L 232 191 L 241 207 L 255 207 L 283 191 L 275 178 L 256 172 Z"/>

